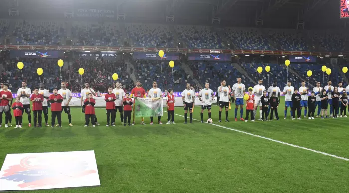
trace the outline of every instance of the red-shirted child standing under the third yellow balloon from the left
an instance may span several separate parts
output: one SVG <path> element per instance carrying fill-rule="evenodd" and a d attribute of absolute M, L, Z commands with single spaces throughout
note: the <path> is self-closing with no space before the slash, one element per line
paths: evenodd
<path fill-rule="evenodd" d="M 48 101 L 51 103 L 51 127 L 54 128 L 54 124 L 56 121 L 58 121 L 58 127 L 62 127 L 62 118 L 61 118 L 61 111 L 62 111 L 62 102 L 63 97 L 58 94 L 58 88 L 53 89 L 53 94 L 48 97 Z"/>

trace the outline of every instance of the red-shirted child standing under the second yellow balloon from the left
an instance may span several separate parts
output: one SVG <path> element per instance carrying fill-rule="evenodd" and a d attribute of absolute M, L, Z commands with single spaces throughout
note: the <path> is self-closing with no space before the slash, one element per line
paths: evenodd
<path fill-rule="evenodd" d="M 34 93 L 31 95 L 30 100 L 33 103 L 34 127 L 41 127 L 43 95 L 39 93 L 38 87 L 34 88 Z"/>

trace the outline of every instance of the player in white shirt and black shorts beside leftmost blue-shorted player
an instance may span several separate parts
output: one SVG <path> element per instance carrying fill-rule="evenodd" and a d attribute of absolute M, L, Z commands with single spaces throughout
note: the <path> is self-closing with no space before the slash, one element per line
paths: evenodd
<path fill-rule="evenodd" d="M 222 122 L 222 110 L 225 108 L 225 122 L 229 122 L 229 104 L 230 104 L 230 90 L 226 86 L 225 80 L 222 80 L 220 86 L 218 87 L 218 96 L 219 96 L 219 122 Z"/>

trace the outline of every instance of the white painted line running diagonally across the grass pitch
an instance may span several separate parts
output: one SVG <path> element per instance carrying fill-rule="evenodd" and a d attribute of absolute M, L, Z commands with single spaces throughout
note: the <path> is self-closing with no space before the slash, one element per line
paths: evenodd
<path fill-rule="evenodd" d="M 166 111 L 164 111 L 164 112 L 166 112 Z M 175 115 L 184 117 L 183 115 L 180 115 L 180 114 L 175 114 Z M 197 120 L 197 119 L 194 119 L 194 118 L 193 118 L 193 120 L 200 121 L 200 120 Z M 325 156 L 331 156 L 333 158 L 349 161 L 348 158 L 344 158 L 344 157 L 341 157 L 341 156 L 336 156 L 336 155 L 333 155 L 333 154 L 317 151 L 317 150 L 314 150 L 314 149 L 309 149 L 309 148 L 306 148 L 306 147 L 294 145 L 294 144 L 291 144 L 291 143 L 282 142 L 282 141 L 279 141 L 279 140 L 271 139 L 271 138 L 268 138 L 268 137 L 263 137 L 263 136 L 260 136 L 260 135 L 255 135 L 255 134 L 252 134 L 252 133 L 248 133 L 248 132 L 245 132 L 245 131 L 240 131 L 240 130 L 237 130 L 237 129 L 232 129 L 232 128 L 229 128 L 229 127 L 224 127 L 224 126 L 213 124 L 213 123 L 211 123 L 211 125 L 214 125 L 214 126 L 217 126 L 217 127 L 221 127 L 221 128 L 224 128 L 224 129 L 228 129 L 228 130 L 231 130 L 231 131 L 236 131 L 236 132 L 239 132 L 239 133 L 251 135 L 251 136 L 254 136 L 254 137 L 266 139 L 266 140 L 269 140 L 269 141 L 274 141 L 276 143 L 281 143 L 281 144 L 288 145 L 288 146 L 291 146 L 291 147 L 296 147 L 296 148 L 312 151 L 312 152 L 319 153 L 319 154 L 322 154 L 322 155 L 325 155 Z"/>

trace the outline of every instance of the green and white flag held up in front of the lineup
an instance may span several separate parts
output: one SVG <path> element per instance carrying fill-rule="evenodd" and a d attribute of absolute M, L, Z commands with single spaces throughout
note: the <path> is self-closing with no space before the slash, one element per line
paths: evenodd
<path fill-rule="evenodd" d="M 135 117 L 163 116 L 163 98 L 136 98 Z"/>

